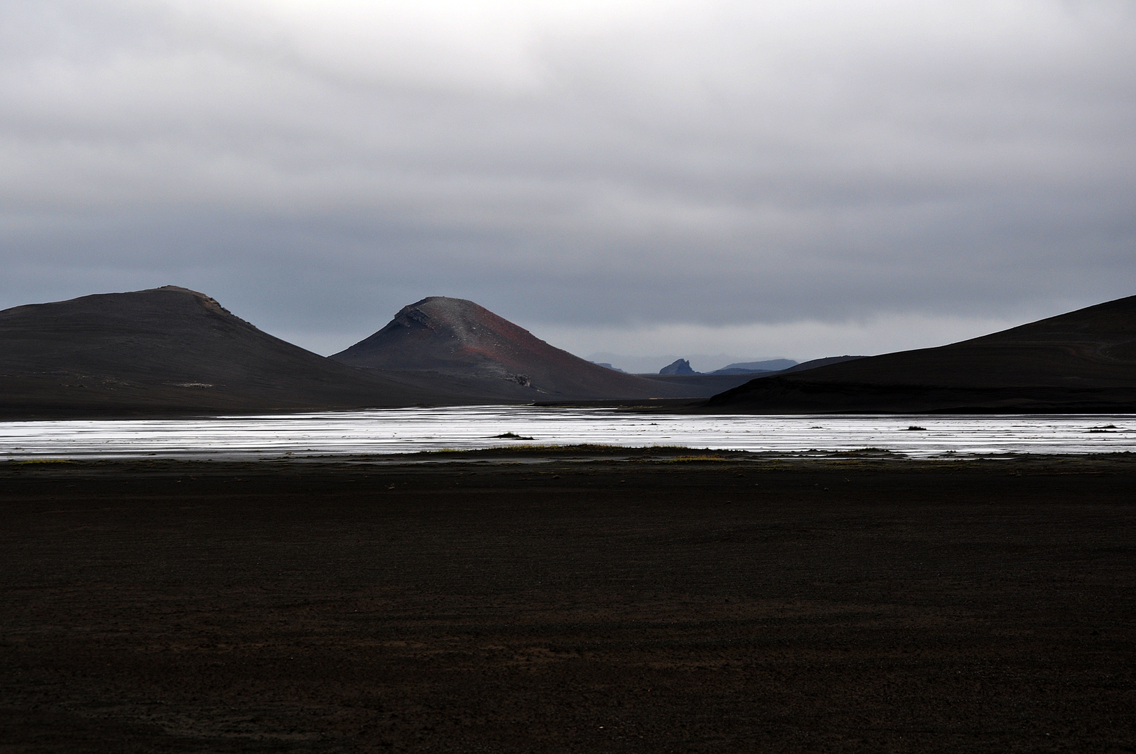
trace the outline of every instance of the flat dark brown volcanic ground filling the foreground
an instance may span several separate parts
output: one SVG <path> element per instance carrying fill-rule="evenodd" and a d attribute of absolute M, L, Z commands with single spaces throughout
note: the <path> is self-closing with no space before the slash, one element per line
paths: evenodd
<path fill-rule="evenodd" d="M 0 752 L 1136 747 L 1136 459 L 481 458 L 0 464 Z"/>

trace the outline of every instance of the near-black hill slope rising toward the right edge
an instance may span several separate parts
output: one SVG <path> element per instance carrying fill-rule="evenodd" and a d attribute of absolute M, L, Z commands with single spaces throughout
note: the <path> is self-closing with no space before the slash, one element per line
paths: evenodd
<path fill-rule="evenodd" d="M 707 410 L 1136 411 L 1136 296 L 935 349 L 761 377 L 713 396 Z"/>

